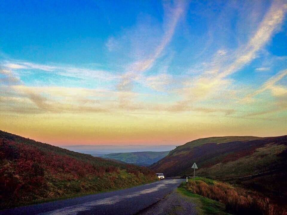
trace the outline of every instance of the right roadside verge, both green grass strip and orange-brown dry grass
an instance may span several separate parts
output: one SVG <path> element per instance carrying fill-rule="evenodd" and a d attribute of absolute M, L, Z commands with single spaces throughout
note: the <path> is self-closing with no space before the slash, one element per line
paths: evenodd
<path fill-rule="evenodd" d="M 189 180 L 183 183 L 180 189 L 185 194 L 190 193 L 193 198 L 200 199 L 204 214 L 220 214 L 220 211 L 236 215 L 287 214 L 285 207 L 275 205 L 262 193 L 232 186 L 225 182 L 198 177 L 195 181 Z"/>

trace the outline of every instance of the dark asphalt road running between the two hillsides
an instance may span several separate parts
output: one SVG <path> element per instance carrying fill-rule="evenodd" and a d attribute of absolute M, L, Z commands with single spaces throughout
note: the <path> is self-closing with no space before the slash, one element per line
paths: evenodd
<path fill-rule="evenodd" d="M 0 215 L 137 214 L 171 193 L 184 179 L 167 179 L 124 190 L 0 211 Z"/>

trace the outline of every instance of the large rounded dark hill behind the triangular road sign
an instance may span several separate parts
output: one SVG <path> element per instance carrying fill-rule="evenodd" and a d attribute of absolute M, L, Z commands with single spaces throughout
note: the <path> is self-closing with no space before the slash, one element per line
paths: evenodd
<path fill-rule="evenodd" d="M 287 197 L 287 136 L 197 139 L 178 146 L 150 168 L 166 176 L 193 176 L 194 162 L 197 176 Z"/>

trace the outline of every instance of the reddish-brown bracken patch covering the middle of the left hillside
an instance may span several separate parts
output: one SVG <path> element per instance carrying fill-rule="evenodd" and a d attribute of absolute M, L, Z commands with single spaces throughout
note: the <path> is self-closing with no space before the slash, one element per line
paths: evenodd
<path fill-rule="evenodd" d="M 12 141 L 1 140 L 1 157 L 7 159 L 8 163 L 1 172 L 11 169 L 16 175 L 27 175 L 33 180 L 33 177 L 42 177 L 44 172 L 48 172 L 57 179 L 79 179 L 90 174 L 102 176 L 106 172 L 118 172 L 119 169 L 114 166 L 96 167 L 91 163 L 83 162 L 75 158 L 56 153 L 44 152 L 36 147 L 15 143 Z M 3 153 L 4 152 L 4 153 Z M 7 152 L 7 153 L 5 153 Z M 13 161 L 10 163 L 9 161 Z M 27 182 L 27 181 L 26 181 Z"/>

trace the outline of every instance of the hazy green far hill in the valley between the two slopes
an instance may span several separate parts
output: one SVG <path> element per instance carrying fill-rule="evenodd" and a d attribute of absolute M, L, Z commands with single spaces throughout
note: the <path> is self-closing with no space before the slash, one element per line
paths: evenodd
<path fill-rule="evenodd" d="M 112 153 L 102 155 L 102 158 L 115 159 L 126 163 L 132 163 L 139 166 L 149 166 L 168 155 L 170 151 L 164 152 L 127 152 Z"/>

